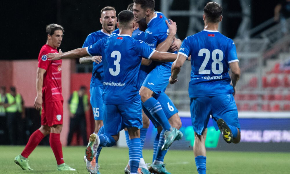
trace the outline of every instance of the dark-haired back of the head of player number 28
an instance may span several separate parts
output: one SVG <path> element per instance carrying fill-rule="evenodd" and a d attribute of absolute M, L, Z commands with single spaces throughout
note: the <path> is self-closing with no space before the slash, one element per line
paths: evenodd
<path fill-rule="evenodd" d="M 206 21 L 218 23 L 222 15 L 222 6 L 216 2 L 209 2 L 203 9 Z"/>

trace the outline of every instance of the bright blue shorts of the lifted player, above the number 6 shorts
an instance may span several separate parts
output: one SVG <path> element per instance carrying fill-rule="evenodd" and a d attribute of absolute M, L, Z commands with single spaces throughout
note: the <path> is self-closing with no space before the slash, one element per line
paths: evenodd
<path fill-rule="evenodd" d="M 155 94 L 159 94 L 166 89 L 170 76 L 171 69 L 167 65 L 159 64 L 147 75 L 142 86 L 149 88 Z"/>

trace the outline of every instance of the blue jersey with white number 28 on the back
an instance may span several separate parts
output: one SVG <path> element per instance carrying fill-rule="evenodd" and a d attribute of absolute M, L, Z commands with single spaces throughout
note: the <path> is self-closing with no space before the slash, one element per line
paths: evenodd
<path fill-rule="evenodd" d="M 233 93 L 229 63 L 239 60 L 232 39 L 218 31 L 203 30 L 186 37 L 178 54 L 191 55 L 189 97 Z"/>

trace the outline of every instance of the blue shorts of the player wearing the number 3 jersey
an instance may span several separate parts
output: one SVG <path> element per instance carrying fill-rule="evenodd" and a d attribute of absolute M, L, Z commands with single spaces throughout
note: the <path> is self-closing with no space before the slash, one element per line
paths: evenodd
<path fill-rule="evenodd" d="M 128 104 L 104 104 L 103 122 L 105 134 L 108 135 L 117 135 L 124 128 L 141 129 L 143 127 L 141 100 Z"/>

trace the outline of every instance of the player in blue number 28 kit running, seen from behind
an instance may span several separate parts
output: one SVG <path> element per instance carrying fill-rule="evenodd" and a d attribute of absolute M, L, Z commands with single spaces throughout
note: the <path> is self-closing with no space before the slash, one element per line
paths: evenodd
<path fill-rule="evenodd" d="M 192 126 L 195 132 L 193 153 L 199 174 L 206 173 L 206 132 L 210 115 L 216 130 L 227 143 L 240 142 L 238 110 L 233 95 L 240 78 L 235 43 L 218 32 L 222 7 L 209 2 L 204 7 L 204 30 L 184 39 L 177 60 L 172 65 L 171 84 L 184 61 L 191 55 L 189 97 Z M 228 74 L 231 68 L 231 78 Z"/>

